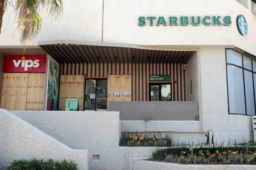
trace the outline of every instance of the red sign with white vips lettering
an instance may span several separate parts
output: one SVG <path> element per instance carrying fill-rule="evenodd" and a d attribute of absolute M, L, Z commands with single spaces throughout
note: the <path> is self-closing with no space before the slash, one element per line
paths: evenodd
<path fill-rule="evenodd" d="M 4 73 L 45 73 L 45 56 L 5 56 Z"/>

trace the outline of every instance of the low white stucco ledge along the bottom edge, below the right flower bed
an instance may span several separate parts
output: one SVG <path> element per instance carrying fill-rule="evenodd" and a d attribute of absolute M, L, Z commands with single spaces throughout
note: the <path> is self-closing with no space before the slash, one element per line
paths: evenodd
<path fill-rule="evenodd" d="M 175 170 L 234 170 L 234 169 L 250 169 L 256 170 L 255 165 L 194 165 L 194 164 L 177 164 L 177 163 L 167 163 L 167 162 L 157 162 L 157 161 L 147 161 L 147 160 L 135 160 L 132 164 L 132 170 L 141 169 L 175 169 Z"/>

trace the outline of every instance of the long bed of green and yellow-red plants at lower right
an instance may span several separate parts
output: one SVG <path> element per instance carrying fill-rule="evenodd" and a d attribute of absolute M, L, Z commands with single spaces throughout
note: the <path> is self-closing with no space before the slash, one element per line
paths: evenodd
<path fill-rule="evenodd" d="M 181 146 L 181 145 L 180 145 Z M 184 164 L 256 164 L 256 148 L 239 145 L 199 146 L 193 149 L 184 147 L 156 148 L 152 152 L 155 161 Z"/>

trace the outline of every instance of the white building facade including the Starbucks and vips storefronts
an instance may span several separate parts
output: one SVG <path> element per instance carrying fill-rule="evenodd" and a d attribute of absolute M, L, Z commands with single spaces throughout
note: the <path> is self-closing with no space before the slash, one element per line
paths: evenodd
<path fill-rule="evenodd" d="M 66 99 L 78 99 L 77 110 L 120 111 L 122 121 L 170 121 L 175 126 L 167 131 L 181 135 L 210 132 L 219 142 L 253 138 L 255 1 L 63 5 L 57 20 L 41 10 L 42 28 L 25 51 L 13 32 L 14 9 L 5 13 L 1 108 L 67 110 Z M 28 61 L 28 72 L 7 69 L 10 63 L 25 69 L 31 56 L 45 56 L 45 72 L 29 72 L 37 58 Z M 184 128 L 190 130 L 177 127 L 191 122 Z"/>

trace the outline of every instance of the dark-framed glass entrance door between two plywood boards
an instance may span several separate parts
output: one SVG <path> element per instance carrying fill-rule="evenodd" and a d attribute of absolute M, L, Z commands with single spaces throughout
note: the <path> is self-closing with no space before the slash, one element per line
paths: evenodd
<path fill-rule="evenodd" d="M 85 81 L 84 110 L 107 111 L 107 78 L 88 78 Z"/>

